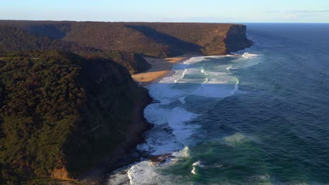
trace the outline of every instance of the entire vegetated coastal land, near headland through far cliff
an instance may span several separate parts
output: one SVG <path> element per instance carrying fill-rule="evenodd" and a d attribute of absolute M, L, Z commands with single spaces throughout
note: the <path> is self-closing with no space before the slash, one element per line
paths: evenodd
<path fill-rule="evenodd" d="M 251 45 L 244 25 L 0 21 L 0 183 L 116 167 L 148 128 L 150 97 L 131 78 L 145 56 Z"/>

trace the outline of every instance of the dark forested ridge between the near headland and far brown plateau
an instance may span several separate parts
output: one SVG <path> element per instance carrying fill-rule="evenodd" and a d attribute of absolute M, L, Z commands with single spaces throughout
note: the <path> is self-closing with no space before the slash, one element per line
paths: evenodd
<path fill-rule="evenodd" d="M 48 30 L 48 29 L 46 29 Z M 123 50 L 101 50 L 88 46 L 79 46 L 77 43 L 51 39 L 49 36 L 38 36 L 31 32 L 0 25 L 0 57 L 8 53 L 27 53 L 30 55 L 34 50 L 61 50 L 77 53 L 84 56 L 106 57 L 114 62 L 122 64 L 131 74 L 146 71 L 150 64 L 142 57 L 133 52 Z"/>

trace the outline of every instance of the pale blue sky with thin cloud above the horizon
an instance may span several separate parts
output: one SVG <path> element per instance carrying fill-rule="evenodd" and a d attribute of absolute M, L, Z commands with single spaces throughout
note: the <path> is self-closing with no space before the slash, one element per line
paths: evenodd
<path fill-rule="evenodd" d="M 0 0 L 0 20 L 329 23 L 329 0 Z"/>

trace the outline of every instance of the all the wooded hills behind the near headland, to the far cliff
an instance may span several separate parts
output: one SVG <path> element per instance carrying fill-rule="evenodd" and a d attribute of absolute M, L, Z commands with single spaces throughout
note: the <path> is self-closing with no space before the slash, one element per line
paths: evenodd
<path fill-rule="evenodd" d="M 0 57 L 2 52 L 63 50 L 107 57 L 131 74 L 150 68 L 143 56 L 224 55 L 251 45 L 244 25 L 0 20 Z"/>

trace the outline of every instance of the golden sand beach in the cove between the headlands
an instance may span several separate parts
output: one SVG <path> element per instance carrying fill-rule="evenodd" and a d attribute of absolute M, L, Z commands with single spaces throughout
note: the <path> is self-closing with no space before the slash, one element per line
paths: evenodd
<path fill-rule="evenodd" d="M 145 86 L 150 83 L 153 83 L 160 78 L 167 75 L 171 70 L 172 66 L 183 60 L 188 60 L 190 56 L 181 56 L 181 57 L 167 57 L 167 58 L 153 58 L 153 57 L 144 57 L 148 63 L 151 64 L 151 68 L 148 71 L 134 74 L 132 78 L 137 81 L 140 85 Z"/>

